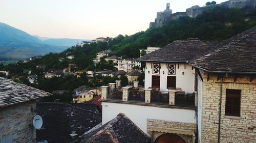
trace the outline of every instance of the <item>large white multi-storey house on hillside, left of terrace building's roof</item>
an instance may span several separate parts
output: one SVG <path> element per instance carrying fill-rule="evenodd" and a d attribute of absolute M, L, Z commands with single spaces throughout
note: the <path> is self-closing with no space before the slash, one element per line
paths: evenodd
<path fill-rule="evenodd" d="M 135 67 L 141 67 L 140 62 L 135 59 L 119 59 L 117 64 L 116 68 L 125 72 L 131 72 Z"/>

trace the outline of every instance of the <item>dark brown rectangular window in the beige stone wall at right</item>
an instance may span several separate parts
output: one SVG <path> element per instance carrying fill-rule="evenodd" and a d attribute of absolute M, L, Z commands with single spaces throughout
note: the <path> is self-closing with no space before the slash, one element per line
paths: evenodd
<path fill-rule="evenodd" d="M 241 90 L 226 89 L 225 115 L 240 116 Z"/>

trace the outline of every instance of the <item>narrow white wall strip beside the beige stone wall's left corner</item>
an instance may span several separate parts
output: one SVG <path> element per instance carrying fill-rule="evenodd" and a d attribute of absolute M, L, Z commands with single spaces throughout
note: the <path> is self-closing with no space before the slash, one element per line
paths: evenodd
<path fill-rule="evenodd" d="M 203 76 L 203 75 L 202 75 Z M 201 142 L 201 132 L 202 132 L 202 95 L 203 95 L 203 82 L 201 81 L 200 77 L 198 76 L 198 142 Z"/>

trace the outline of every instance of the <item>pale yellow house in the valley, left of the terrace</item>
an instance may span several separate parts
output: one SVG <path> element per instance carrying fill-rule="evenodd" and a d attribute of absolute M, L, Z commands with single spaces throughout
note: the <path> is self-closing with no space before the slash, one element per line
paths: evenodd
<path fill-rule="evenodd" d="M 94 93 L 85 87 L 79 87 L 74 90 L 73 103 L 83 103 L 93 99 Z"/>

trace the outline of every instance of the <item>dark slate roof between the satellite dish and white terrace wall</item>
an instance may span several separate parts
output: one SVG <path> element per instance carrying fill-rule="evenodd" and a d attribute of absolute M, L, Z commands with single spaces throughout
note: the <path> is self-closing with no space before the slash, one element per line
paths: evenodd
<path fill-rule="evenodd" d="M 37 103 L 36 109 L 44 127 L 36 130 L 38 141 L 72 142 L 101 122 L 101 113 L 94 104 Z M 72 133 L 77 135 L 72 138 Z"/>

